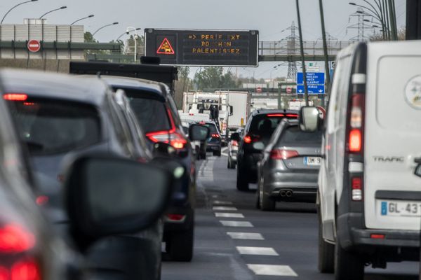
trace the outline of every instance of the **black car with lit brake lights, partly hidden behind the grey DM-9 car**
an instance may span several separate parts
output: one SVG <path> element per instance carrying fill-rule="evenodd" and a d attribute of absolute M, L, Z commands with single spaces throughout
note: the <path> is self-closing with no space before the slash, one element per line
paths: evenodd
<path fill-rule="evenodd" d="M 269 144 L 272 133 L 283 120 L 298 118 L 298 111 L 293 110 L 256 110 L 250 118 L 239 141 L 237 155 L 237 190 L 248 190 L 248 183 L 258 181 L 257 165 L 262 159 L 262 147 Z"/>

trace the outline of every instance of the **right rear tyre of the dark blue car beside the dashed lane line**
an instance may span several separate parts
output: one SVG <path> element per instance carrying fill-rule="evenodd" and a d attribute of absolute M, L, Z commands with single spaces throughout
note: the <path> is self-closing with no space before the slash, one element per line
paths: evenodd
<path fill-rule="evenodd" d="M 187 230 L 172 232 L 166 240 L 166 251 L 173 261 L 189 262 L 193 258 L 194 225 Z"/>

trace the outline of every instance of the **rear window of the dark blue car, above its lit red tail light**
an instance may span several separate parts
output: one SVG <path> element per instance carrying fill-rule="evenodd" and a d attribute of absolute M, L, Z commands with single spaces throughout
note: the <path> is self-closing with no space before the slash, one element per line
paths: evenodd
<path fill-rule="evenodd" d="M 168 120 L 168 113 L 165 104 L 156 99 L 147 99 L 126 92 L 136 118 L 143 130 L 147 132 L 156 132 L 161 130 L 171 130 L 171 124 Z"/>

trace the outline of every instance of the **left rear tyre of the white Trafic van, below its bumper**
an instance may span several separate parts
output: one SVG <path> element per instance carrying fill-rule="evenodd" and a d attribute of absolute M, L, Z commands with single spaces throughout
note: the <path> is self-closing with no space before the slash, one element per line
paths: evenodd
<path fill-rule="evenodd" d="M 335 280 L 363 280 L 363 277 L 363 258 L 361 258 L 361 255 L 342 248 L 339 237 L 337 237 L 335 245 Z"/>

